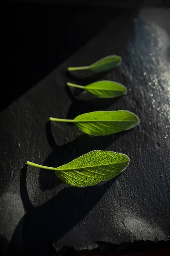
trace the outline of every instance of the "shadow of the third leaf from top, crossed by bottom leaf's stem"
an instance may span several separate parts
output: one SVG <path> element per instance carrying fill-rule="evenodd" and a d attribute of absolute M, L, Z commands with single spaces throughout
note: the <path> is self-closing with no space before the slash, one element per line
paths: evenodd
<path fill-rule="evenodd" d="M 88 153 L 89 151 L 99 149 L 105 150 L 111 143 L 116 141 L 119 137 L 123 136 L 125 133 L 112 134 L 108 136 L 98 136 L 91 137 L 88 134 L 82 134 L 77 137 L 75 140 L 66 143 L 65 145 L 58 146 L 53 138 L 51 131 L 50 121 L 46 122 L 46 137 L 48 144 L 52 148 L 51 154 L 44 161 L 44 166 L 61 166 L 65 164 L 65 159 L 67 163 L 74 160 L 75 158 L 81 156 L 82 154 Z M 70 153 L 71 152 L 71 153 Z M 62 180 L 55 175 L 55 172 L 52 170 L 40 169 L 39 176 L 40 189 L 42 191 L 52 189 L 60 184 Z"/>

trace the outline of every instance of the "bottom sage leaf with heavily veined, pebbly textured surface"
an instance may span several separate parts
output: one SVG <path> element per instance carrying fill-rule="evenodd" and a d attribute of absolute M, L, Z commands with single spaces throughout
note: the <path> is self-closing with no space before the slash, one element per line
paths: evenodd
<path fill-rule="evenodd" d="M 55 175 L 64 182 L 73 186 L 85 187 L 93 186 L 100 181 L 111 180 L 125 171 L 129 161 L 129 157 L 125 154 L 94 150 L 57 168 L 31 162 L 27 162 L 27 164 L 54 170 Z"/>

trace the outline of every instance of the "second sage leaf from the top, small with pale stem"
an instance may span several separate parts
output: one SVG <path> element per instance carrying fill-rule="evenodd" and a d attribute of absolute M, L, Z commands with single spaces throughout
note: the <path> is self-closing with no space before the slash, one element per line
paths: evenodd
<path fill-rule="evenodd" d="M 127 93 L 123 84 L 113 81 L 97 81 L 86 86 L 67 83 L 68 86 L 84 89 L 99 98 L 115 98 Z"/>

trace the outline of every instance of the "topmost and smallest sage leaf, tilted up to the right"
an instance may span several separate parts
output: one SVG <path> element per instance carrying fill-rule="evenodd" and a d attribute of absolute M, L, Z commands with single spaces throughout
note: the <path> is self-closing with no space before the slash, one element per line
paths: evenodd
<path fill-rule="evenodd" d="M 74 70 L 90 70 L 94 73 L 99 73 L 107 70 L 111 70 L 113 67 L 119 66 L 122 62 L 122 58 L 118 55 L 109 55 L 105 58 L 96 61 L 94 64 L 85 67 L 68 67 L 69 71 Z"/>

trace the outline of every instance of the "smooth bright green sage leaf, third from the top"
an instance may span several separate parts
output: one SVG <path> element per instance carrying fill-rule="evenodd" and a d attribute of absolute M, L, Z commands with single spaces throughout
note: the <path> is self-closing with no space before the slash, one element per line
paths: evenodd
<path fill-rule="evenodd" d="M 50 117 L 51 121 L 74 122 L 74 125 L 86 134 L 109 135 L 127 131 L 139 125 L 139 117 L 126 110 L 94 111 L 77 116 L 74 119 Z"/>

